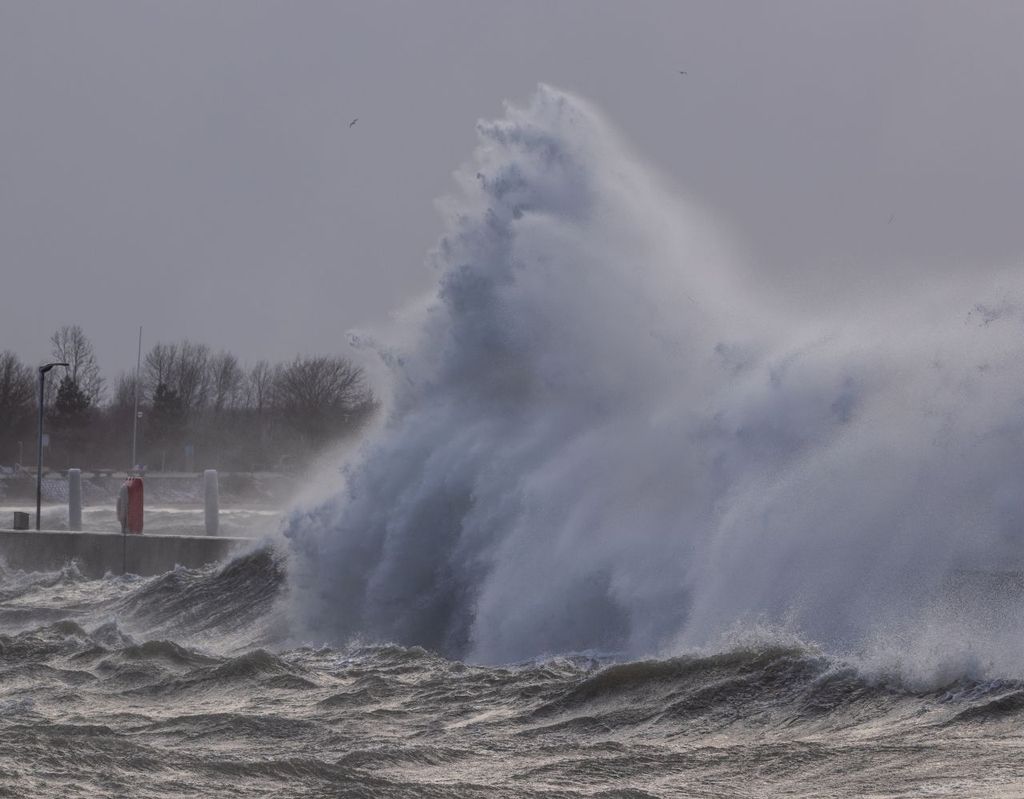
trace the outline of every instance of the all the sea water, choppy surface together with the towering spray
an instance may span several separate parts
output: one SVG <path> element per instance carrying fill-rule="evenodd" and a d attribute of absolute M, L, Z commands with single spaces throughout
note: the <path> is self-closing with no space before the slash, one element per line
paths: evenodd
<path fill-rule="evenodd" d="M 1024 272 L 795 307 L 586 100 L 477 132 L 249 551 L 0 571 L 0 796 L 1024 796 Z"/>

